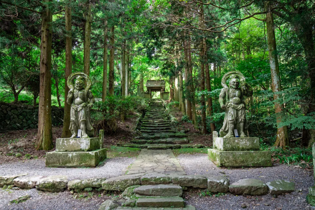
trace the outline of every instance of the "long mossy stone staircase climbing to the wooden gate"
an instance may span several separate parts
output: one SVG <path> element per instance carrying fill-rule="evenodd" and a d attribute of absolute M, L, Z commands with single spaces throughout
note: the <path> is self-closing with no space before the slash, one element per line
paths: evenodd
<path fill-rule="evenodd" d="M 150 99 L 149 107 L 141 124 L 142 133 L 125 147 L 147 149 L 179 149 L 187 144 L 185 133 L 176 133 L 172 128 L 162 99 Z"/>

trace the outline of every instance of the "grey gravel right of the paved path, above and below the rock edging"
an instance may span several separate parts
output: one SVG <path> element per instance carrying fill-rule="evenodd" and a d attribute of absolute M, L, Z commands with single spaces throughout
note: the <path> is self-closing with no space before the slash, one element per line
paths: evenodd
<path fill-rule="evenodd" d="M 314 186 L 313 171 L 308 171 L 300 167 L 276 164 L 273 167 L 255 167 L 255 168 L 231 168 L 216 167 L 207 154 L 181 154 L 177 156 L 180 165 L 187 174 L 215 174 L 225 173 L 230 183 L 239 179 L 260 179 L 268 182 L 276 179 L 285 179 L 295 182 L 295 188 L 302 192 L 295 192 L 279 195 L 273 198 L 271 195 L 264 196 L 234 196 L 227 193 L 224 196 L 200 196 L 196 190 L 188 190 L 185 194 L 186 204 L 196 207 L 197 210 L 208 209 L 243 209 L 241 204 L 247 206 L 246 209 L 314 209 L 306 202 L 308 187 Z M 221 173 L 220 173 L 221 172 Z"/>

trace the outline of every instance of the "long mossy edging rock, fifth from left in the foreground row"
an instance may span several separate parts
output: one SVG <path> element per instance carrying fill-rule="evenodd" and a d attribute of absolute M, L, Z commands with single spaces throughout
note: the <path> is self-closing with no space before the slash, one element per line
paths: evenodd
<path fill-rule="evenodd" d="M 123 191 L 127 187 L 140 185 L 140 178 L 143 175 L 145 175 L 145 173 L 130 174 L 106 179 L 104 182 L 102 182 L 102 188 L 104 190 Z"/>

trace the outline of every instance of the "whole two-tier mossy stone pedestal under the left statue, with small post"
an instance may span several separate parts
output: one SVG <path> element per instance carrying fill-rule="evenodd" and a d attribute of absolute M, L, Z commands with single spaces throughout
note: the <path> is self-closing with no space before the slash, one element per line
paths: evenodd
<path fill-rule="evenodd" d="M 104 131 L 98 138 L 62 138 L 46 153 L 46 167 L 95 167 L 106 158 Z"/>

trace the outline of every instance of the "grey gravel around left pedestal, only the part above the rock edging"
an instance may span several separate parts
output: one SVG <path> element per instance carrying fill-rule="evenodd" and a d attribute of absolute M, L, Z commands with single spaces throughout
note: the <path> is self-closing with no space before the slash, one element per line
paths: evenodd
<path fill-rule="evenodd" d="M 69 180 L 87 178 L 110 178 L 123 175 L 126 168 L 135 161 L 135 158 L 116 157 L 108 158 L 98 167 L 82 168 L 53 168 L 45 167 L 45 158 L 26 162 L 10 162 L 0 165 L 0 175 L 28 173 L 31 175 L 65 175 Z"/>

